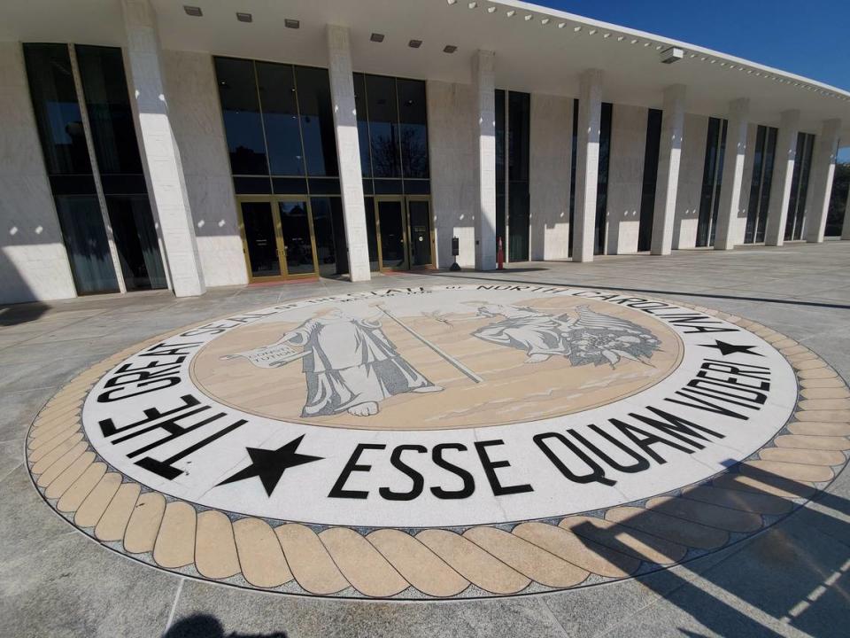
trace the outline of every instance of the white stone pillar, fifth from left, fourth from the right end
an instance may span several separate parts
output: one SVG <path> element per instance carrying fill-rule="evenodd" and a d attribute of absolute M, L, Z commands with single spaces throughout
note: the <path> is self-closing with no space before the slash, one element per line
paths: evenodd
<path fill-rule="evenodd" d="M 658 180 L 653 210 L 654 255 L 668 255 L 673 247 L 673 223 L 676 220 L 676 193 L 679 188 L 684 132 L 684 96 L 683 84 L 674 84 L 664 90 L 661 148 L 658 153 Z"/>

